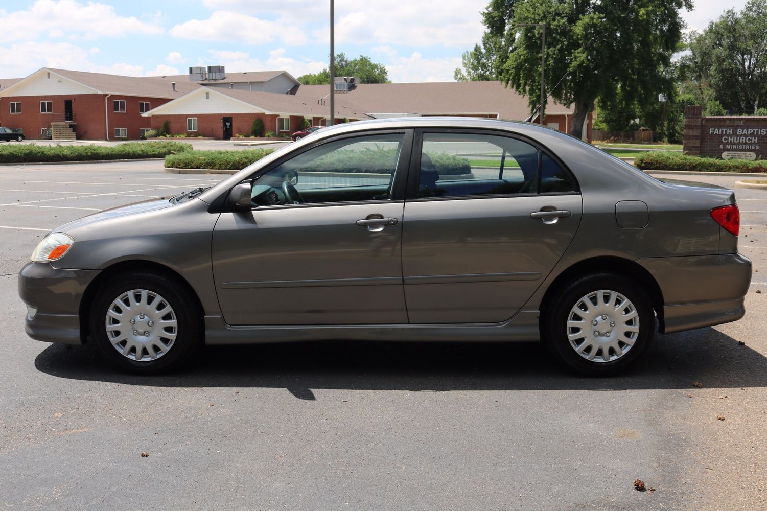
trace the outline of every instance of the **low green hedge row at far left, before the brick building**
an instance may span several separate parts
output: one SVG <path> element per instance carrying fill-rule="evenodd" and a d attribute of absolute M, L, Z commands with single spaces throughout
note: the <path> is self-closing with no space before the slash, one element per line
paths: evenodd
<path fill-rule="evenodd" d="M 95 144 L 77 146 L 45 146 L 35 143 L 4 143 L 0 145 L 0 163 L 41 163 L 55 161 L 135 160 L 162 158 L 169 154 L 192 150 L 189 143 L 131 142 L 117 146 Z"/>

